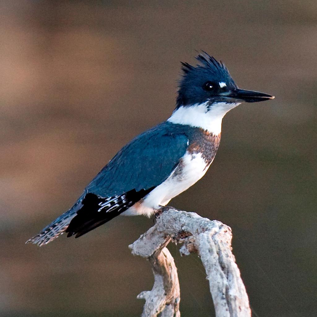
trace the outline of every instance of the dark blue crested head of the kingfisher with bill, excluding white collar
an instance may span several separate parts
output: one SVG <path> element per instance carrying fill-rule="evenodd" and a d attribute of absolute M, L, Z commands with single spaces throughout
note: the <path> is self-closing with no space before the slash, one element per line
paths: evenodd
<path fill-rule="evenodd" d="M 179 82 L 176 109 L 207 103 L 210 110 L 217 104 L 234 107 L 242 102 L 274 98 L 269 94 L 239 89 L 226 66 L 207 53 L 199 54 L 196 59 L 199 61 L 196 66 L 182 63 L 183 76 Z"/>

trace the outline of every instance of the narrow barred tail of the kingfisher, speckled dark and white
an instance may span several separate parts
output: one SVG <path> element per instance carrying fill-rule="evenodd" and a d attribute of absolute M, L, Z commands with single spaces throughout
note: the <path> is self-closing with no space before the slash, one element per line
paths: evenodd
<path fill-rule="evenodd" d="M 38 246 L 42 246 L 53 241 L 59 235 L 65 232 L 69 223 L 76 216 L 77 211 L 81 207 L 81 200 L 78 200 L 71 209 L 67 210 L 60 217 L 56 218 L 53 222 L 41 230 L 40 233 L 30 238 L 26 243 L 33 243 L 37 244 Z"/>

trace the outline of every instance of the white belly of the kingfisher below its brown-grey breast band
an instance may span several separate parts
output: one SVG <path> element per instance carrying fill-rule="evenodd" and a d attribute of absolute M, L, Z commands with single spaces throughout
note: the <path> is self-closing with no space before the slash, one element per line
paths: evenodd
<path fill-rule="evenodd" d="M 210 163 L 211 164 L 211 163 Z M 146 215 L 150 217 L 159 206 L 165 206 L 175 196 L 179 195 L 200 178 L 208 167 L 200 153 L 188 153 L 183 156 L 181 163 L 162 184 L 155 187 L 142 201 L 134 204 L 123 212 L 123 216 Z"/>

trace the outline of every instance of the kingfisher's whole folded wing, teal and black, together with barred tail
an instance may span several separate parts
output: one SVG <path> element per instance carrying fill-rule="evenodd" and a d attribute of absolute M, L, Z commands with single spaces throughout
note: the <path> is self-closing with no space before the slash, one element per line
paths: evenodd
<path fill-rule="evenodd" d="M 28 242 L 43 245 L 63 232 L 82 236 L 118 216 L 168 178 L 184 156 L 187 136 L 164 122 L 134 138 L 99 172 L 76 204 Z"/>

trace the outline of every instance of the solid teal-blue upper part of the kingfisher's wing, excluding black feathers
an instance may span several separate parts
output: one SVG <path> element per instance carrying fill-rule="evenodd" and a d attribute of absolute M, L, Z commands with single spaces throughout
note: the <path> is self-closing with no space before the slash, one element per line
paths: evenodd
<path fill-rule="evenodd" d="M 164 182 L 188 146 L 187 136 L 171 127 L 162 123 L 134 138 L 98 173 L 86 192 L 113 197 Z"/>

